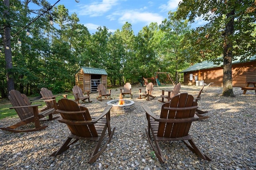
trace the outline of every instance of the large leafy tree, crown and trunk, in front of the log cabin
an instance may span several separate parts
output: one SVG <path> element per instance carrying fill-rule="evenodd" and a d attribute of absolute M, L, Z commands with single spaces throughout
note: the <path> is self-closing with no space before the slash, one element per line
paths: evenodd
<path fill-rule="evenodd" d="M 255 2 L 254 2 L 255 3 Z M 191 22 L 197 17 L 208 24 L 196 29 L 195 43 L 200 46 L 200 55 L 217 61 L 221 54 L 223 61 L 224 96 L 234 96 L 232 86 L 232 60 L 241 56 L 246 60 L 256 52 L 255 12 L 253 0 L 185 0 L 180 2 L 177 10 L 178 18 L 187 18 Z"/>

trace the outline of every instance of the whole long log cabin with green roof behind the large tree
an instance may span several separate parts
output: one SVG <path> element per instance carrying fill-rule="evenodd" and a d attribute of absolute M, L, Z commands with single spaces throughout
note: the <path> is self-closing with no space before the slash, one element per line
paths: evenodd
<path fill-rule="evenodd" d="M 184 85 L 203 85 L 213 82 L 211 86 L 223 86 L 223 66 L 213 62 L 204 61 L 194 64 L 184 73 Z M 182 73 L 181 72 L 181 73 Z M 240 58 L 232 62 L 232 85 L 234 87 L 245 86 L 246 82 L 256 82 L 256 56 L 246 62 L 240 62 Z"/>

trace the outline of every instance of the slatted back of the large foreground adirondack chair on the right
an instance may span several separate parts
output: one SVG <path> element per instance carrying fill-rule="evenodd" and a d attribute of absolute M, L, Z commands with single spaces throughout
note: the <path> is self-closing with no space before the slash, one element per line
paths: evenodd
<path fill-rule="evenodd" d="M 174 96 L 170 102 L 166 102 L 162 105 L 160 118 L 191 118 L 194 117 L 196 108 L 192 110 L 168 110 L 165 107 L 172 108 L 184 108 L 190 106 L 197 106 L 197 103 L 193 101 L 194 97 L 187 93 L 181 93 Z M 179 138 L 188 135 L 192 122 L 185 123 L 166 123 L 159 122 L 158 134 L 159 137 L 166 138 Z"/>

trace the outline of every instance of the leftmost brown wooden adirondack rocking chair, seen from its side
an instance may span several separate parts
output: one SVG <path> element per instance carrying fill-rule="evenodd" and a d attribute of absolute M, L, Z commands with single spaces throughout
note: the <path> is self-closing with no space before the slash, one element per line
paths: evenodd
<path fill-rule="evenodd" d="M 31 105 L 27 96 L 25 94 L 21 94 L 18 90 L 11 90 L 9 92 L 9 100 L 11 101 L 12 106 L 13 106 L 13 107 L 10 107 L 10 109 L 16 110 L 21 121 L 12 126 L 1 127 L 2 130 L 16 132 L 16 133 L 42 130 L 44 128 L 47 128 L 48 126 L 40 126 L 40 118 L 44 118 L 46 116 L 49 116 L 49 120 L 59 118 L 59 117 L 52 118 L 52 113 L 55 111 L 54 108 L 50 108 L 43 112 L 39 112 L 38 106 L 40 106 L 41 104 Z M 23 126 L 25 124 L 28 124 L 30 122 L 35 123 L 35 128 L 24 129 L 24 130 L 16 129 L 16 128 Z"/>

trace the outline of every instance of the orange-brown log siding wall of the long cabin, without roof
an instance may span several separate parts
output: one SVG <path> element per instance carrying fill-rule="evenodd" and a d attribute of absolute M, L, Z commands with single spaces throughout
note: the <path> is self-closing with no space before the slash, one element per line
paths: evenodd
<path fill-rule="evenodd" d="M 193 80 L 189 80 L 189 75 L 193 74 Z M 223 68 L 209 68 L 191 72 L 184 72 L 184 85 L 195 85 L 195 76 L 198 80 L 204 80 L 204 83 L 211 86 L 223 86 Z M 256 61 L 232 64 L 232 84 L 234 87 L 243 87 L 246 82 L 256 82 Z"/>

